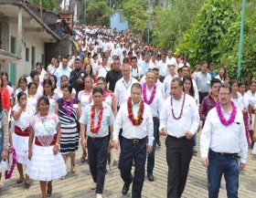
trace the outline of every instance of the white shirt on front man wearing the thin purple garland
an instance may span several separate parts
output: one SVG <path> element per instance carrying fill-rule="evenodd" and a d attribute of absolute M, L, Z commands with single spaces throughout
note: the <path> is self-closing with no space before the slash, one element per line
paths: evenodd
<path fill-rule="evenodd" d="M 171 106 L 171 97 L 168 97 L 165 99 L 160 114 L 159 130 L 165 128 L 168 135 L 176 138 L 186 136 L 187 131 L 190 131 L 194 135 L 197 132 L 200 120 L 196 100 L 188 95 L 186 95 L 181 118 L 179 120 L 174 119 L 172 109 L 174 109 L 174 114 L 177 118 L 181 112 L 183 99 L 184 94 L 182 94 L 179 100 L 173 98 L 173 106 Z"/>

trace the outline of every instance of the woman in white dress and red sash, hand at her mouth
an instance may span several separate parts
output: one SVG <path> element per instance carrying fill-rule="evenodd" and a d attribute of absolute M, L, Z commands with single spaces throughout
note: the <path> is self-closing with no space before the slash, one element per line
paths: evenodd
<path fill-rule="evenodd" d="M 23 91 L 17 94 L 17 103 L 13 108 L 15 132 L 12 134 L 13 147 L 16 149 L 16 167 L 19 172 L 19 179 L 16 183 L 24 181 L 22 164 L 27 165 L 29 121 L 36 110 L 27 104 L 27 94 Z M 29 177 L 26 174 L 25 186 L 30 187 Z"/>

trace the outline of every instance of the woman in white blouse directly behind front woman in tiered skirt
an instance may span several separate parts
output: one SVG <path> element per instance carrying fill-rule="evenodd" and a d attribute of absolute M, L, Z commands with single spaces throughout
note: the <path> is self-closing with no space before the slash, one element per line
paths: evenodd
<path fill-rule="evenodd" d="M 52 81 L 49 78 L 44 79 L 43 95 L 48 97 L 49 111 L 54 113 L 55 112 L 56 101 L 59 99 L 59 95 L 57 93 L 53 92 Z"/>

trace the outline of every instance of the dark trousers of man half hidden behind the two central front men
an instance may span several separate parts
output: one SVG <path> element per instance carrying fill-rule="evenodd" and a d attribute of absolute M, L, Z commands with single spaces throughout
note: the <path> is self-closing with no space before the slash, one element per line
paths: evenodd
<path fill-rule="evenodd" d="M 154 120 L 154 138 L 153 150 L 147 155 L 147 173 L 153 173 L 155 167 L 155 147 L 156 141 L 159 140 L 159 119 Z"/>

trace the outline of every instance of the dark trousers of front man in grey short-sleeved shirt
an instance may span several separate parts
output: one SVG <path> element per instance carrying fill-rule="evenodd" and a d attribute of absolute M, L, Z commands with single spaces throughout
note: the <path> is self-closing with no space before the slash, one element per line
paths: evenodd
<path fill-rule="evenodd" d="M 87 140 L 91 176 L 93 182 L 97 182 L 96 193 L 102 193 L 103 191 L 108 157 L 108 145 L 108 136 L 97 141 L 93 141 L 91 137 L 88 137 Z"/>

